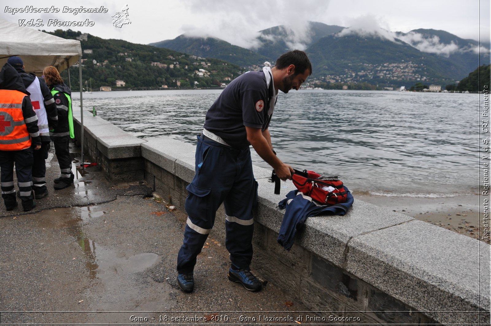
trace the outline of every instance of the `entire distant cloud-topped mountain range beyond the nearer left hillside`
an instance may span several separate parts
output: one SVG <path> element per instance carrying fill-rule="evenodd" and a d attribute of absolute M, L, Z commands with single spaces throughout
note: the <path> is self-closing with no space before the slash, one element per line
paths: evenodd
<path fill-rule="evenodd" d="M 383 85 L 415 82 L 452 83 L 463 79 L 489 51 L 479 54 L 477 41 L 465 40 L 443 30 L 414 29 L 360 36 L 345 27 L 309 22 L 303 31 L 275 26 L 260 31 L 258 49 L 244 49 L 217 38 L 184 37 L 153 45 L 194 55 L 227 60 L 242 67 L 274 61 L 292 48 L 304 49 L 321 81 Z M 341 32 L 341 33 L 340 33 Z M 302 34 L 302 35 L 300 35 Z M 343 35 L 343 36 L 340 36 Z M 390 38 L 390 39 L 389 39 Z"/>

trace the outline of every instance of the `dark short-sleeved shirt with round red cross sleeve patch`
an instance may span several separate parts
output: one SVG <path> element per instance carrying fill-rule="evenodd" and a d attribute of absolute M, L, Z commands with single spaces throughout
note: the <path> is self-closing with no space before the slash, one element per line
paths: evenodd
<path fill-rule="evenodd" d="M 273 94 L 273 82 L 268 89 L 263 71 L 245 73 L 230 82 L 218 96 L 206 113 L 204 128 L 234 148 L 248 147 L 245 126 L 263 131 L 268 128 Z"/>

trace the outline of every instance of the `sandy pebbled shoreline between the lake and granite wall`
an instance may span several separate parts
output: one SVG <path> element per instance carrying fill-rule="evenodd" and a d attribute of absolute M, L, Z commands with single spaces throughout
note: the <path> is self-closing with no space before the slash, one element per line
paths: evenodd
<path fill-rule="evenodd" d="M 440 198 L 388 197 L 353 193 L 356 199 L 432 223 L 447 230 L 481 240 L 480 196 L 463 195 Z M 481 240 L 491 244 L 490 239 Z"/>

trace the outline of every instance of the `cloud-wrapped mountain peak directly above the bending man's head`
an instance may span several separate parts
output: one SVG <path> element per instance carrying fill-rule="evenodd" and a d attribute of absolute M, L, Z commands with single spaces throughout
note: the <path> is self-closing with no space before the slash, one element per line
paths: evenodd
<path fill-rule="evenodd" d="M 276 60 L 281 54 L 289 51 L 292 44 L 300 43 L 303 48 L 308 48 L 321 38 L 340 32 L 345 27 L 336 25 L 326 25 L 317 22 L 308 22 L 307 33 L 304 37 L 295 35 L 295 30 L 285 26 L 275 26 L 260 31 L 258 40 L 263 46 L 256 52 L 269 58 L 269 61 Z M 289 43 L 289 44 L 287 44 Z M 303 50 L 303 49 L 302 49 Z"/>

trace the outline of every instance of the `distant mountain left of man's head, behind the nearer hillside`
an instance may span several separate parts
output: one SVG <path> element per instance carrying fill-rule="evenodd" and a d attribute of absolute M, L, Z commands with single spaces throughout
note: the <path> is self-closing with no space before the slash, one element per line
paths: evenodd
<path fill-rule="evenodd" d="M 239 66 L 262 64 L 264 61 L 270 60 L 264 55 L 232 45 L 214 37 L 187 37 L 183 34 L 173 40 L 165 40 L 149 45 L 201 57 L 226 60 Z"/>

